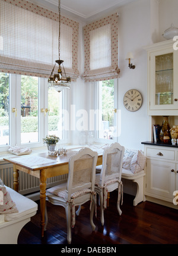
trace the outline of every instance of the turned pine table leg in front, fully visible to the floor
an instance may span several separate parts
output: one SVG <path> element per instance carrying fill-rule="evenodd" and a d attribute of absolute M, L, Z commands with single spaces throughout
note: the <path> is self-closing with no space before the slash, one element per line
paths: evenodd
<path fill-rule="evenodd" d="M 46 170 L 40 170 L 40 213 L 41 213 L 41 227 L 42 238 L 44 236 L 45 227 L 45 204 L 46 204 Z"/>

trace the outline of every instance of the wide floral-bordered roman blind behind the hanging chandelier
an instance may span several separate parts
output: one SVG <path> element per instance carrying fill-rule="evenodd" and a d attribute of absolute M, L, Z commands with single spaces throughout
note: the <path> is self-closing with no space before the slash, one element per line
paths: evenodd
<path fill-rule="evenodd" d="M 48 78 L 59 58 L 59 14 L 25 0 L 0 0 L 0 23 L 0 71 Z M 78 27 L 61 16 L 61 60 L 72 80 L 79 76 Z"/>

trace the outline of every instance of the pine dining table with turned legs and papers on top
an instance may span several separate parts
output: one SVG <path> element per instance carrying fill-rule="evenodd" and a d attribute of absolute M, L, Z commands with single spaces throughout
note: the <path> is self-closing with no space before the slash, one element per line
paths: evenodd
<path fill-rule="evenodd" d="M 19 171 L 28 173 L 40 179 L 40 214 L 42 237 L 45 228 L 45 205 L 46 205 L 46 180 L 49 177 L 55 177 L 68 173 L 69 158 L 76 154 L 78 149 L 69 149 L 66 155 L 50 156 L 48 152 L 39 154 L 21 155 L 4 158 L 5 161 L 13 165 L 14 171 L 14 190 L 18 192 Z M 102 164 L 101 152 L 98 154 L 97 166 Z"/>

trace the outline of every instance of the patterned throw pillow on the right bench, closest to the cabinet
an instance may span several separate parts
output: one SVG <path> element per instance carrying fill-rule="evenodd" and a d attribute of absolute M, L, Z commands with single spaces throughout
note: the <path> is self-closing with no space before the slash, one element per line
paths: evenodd
<path fill-rule="evenodd" d="M 131 160 L 131 171 L 132 173 L 138 173 L 145 167 L 146 157 L 141 151 L 138 151 Z"/>

